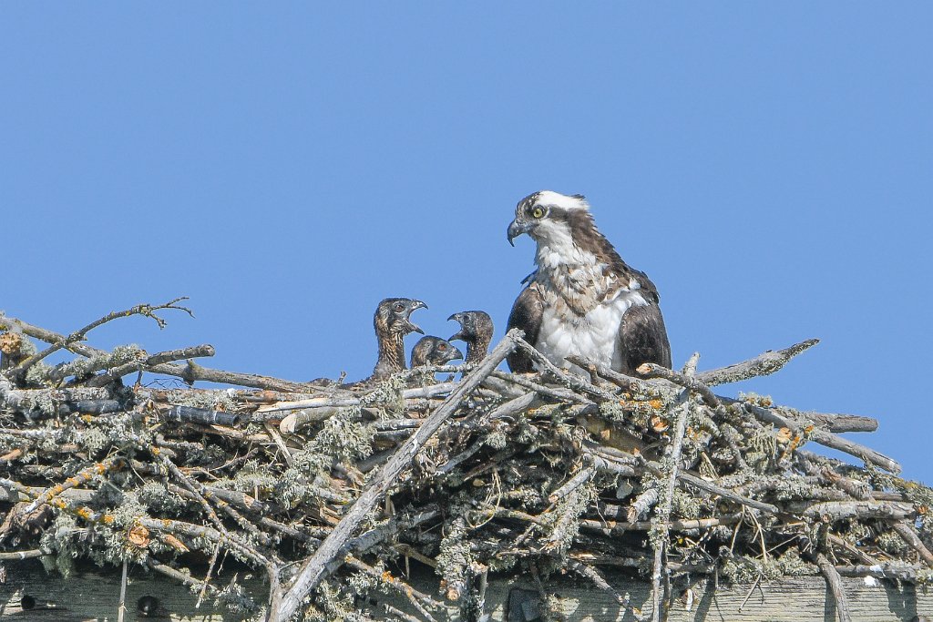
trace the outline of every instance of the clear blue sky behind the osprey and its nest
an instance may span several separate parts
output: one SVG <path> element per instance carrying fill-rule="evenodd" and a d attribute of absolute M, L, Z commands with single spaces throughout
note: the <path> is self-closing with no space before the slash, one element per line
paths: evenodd
<path fill-rule="evenodd" d="M 490 311 L 580 192 L 661 290 L 675 362 L 810 337 L 738 389 L 878 417 L 933 483 L 930 3 L 5 3 L 0 309 L 62 332 L 191 297 L 206 362 L 369 374 L 387 296 Z M 411 339 L 413 342 L 413 339 Z M 411 345 L 411 343 L 410 343 Z"/>

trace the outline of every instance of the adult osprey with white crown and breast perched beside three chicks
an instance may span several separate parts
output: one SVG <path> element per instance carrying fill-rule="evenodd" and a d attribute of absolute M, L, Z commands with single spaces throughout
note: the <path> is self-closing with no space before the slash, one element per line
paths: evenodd
<path fill-rule="evenodd" d="M 519 201 L 508 242 L 527 233 L 537 242 L 537 270 L 508 316 L 508 329 L 550 361 L 577 354 L 632 374 L 643 363 L 671 366 L 671 346 L 648 275 L 628 266 L 596 228 L 581 195 L 543 190 Z M 508 355 L 512 371 L 533 371 L 524 352 Z"/>

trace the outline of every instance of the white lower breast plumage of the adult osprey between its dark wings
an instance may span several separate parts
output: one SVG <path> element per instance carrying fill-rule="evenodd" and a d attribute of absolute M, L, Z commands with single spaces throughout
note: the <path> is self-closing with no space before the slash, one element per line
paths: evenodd
<path fill-rule="evenodd" d="M 546 305 L 535 347 L 554 365 L 575 373 L 584 372 L 567 363 L 564 360 L 567 356 L 582 356 L 618 369 L 622 356 L 619 349 L 622 315 L 633 305 L 647 304 L 637 289 L 622 289 L 617 297 L 596 306 L 583 317 L 557 305 Z"/>

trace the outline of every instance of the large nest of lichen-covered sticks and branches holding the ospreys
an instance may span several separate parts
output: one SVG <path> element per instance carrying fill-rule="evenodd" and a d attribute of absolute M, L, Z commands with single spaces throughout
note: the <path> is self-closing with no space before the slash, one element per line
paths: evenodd
<path fill-rule="evenodd" d="M 0 558 L 65 576 L 76 560 L 130 561 L 271 620 L 431 620 L 441 601 L 469 619 L 501 571 L 579 574 L 636 617 L 704 575 L 823 574 L 830 587 L 841 574 L 929 577 L 933 491 L 837 434 L 874 420 L 709 388 L 773 373 L 815 340 L 711 371 L 696 357 L 680 372 L 642 366 L 640 378 L 574 360 L 580 377 L 513 332 L 479 365 L 355 387 L 193 363 L 210 346 L 86 341 L 127 315 L 162 325 L 158 312 L 177 303 L 69 336 L 0 315 Z M 498 370 L 515 348 L 540 373 Z M 43 362 L 60 351 L 75 356 Z M 166 377 L 180 380 L 152 381 Z M 228 556 L 268 577 L 268 601 L 218 579 Z M 412 562 L 439 575 L 435 593 L 400 578 Z M 615 594 L 606 568 L 649 577 L 653 611 Z M 368 605 L 377 590 L 407 611 Z"/>

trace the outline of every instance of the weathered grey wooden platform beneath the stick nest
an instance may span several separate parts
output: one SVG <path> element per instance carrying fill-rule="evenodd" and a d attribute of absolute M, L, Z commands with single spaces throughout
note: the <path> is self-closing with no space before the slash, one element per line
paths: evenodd
<path fill-rule="evenodd" d="M 621 575 L 610 575 L 609 580 L 620 592 L 630 592 L 633 602 L 648 601 L 647 583 Z M 843 579 L 843 582 L 853 620 L 895 622 L 924 619 L 915 618 L 917 615 L 933 618 L 933 592 L 925 587 L 898 587 L 887 581 L 871 587 L 860 579 Z M 248 581 L 245 585 L 259 600 L 264 597 L 265 587 L 257 580 Z M 426 593 L 438 595 L 437 578 L 430 574 L 419 577 L 417 586 Z M 590 584 L 559 579 L 550 581 L 547 587 L 563 599 L 564 613 L 569 622 L 632 620 L 631 615 L 622 615 L 615 601 Z M 35 601 L 31 609 L 22 608 L 23 596 L 29 597 L 25 599 L 27 605 Z M 157 615 L 144 616 L 137 611 L 137 601 L 144 596 L 158 599 L 160 611 Z M 7 582 L 0 586 L 0 617 L 22 622 L 114 622 L 117 620 L 118 600 L 118 573 L 88 572 L 63 580 L 58 575 L 46 574 L 37 563 L 7 563 Z M 216 609 L 210 600 L 205 600 L 200 609 L 195 609 L 196 600 L 196 595 L 187 588 L 136 568 L 130 574 L 127 587 L 125 619 L 128 622 L 244 619 L 242 615 Z M 399 601 L 392 601 L 403 606 Z M 491 620 L 534 622 L 539 619 L 536 617 L 537 593 L 529 577 L 491 578 L 486 602 Z M 453 609 L 446 615 L 439 612 L 436 617 L 439 620 L 460 619 Z M 676 622 L 834 622 L 836 617 L 823 579 L 802 577 L 762 583 L 754 589 L 752 586 L 720 586 L 715 592 L 705 588 L 702 582 L 693 588 L 692 595 L 683 594 L 675 601 L 668 619 Z"/>

